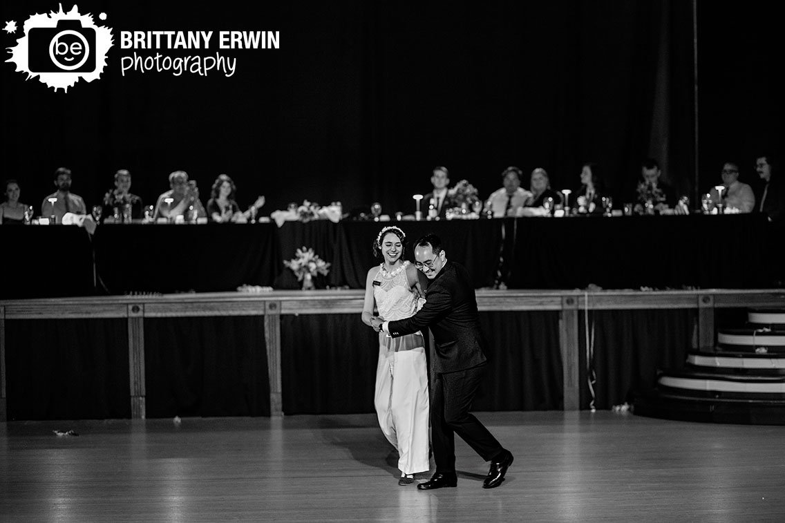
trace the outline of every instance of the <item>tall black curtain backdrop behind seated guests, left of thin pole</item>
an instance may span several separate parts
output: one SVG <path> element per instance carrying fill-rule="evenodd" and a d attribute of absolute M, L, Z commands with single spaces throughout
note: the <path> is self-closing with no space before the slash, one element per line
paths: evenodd
<path fill-rule="evenodd" d="M 554 188 L 575 188 L 586 160 L 626 196 L 647 155 L 666 156 L 666 178 L 680 189 L 692 183 L 690 2 L 86 1 L 79 8 L 107 13 L 97 21 L 114 31 L 99 80 L 54 93 L 24 81 L 13 64 L 2 68 L 0 166 L 35 207 L 63 165 L 89 205 L 119 168 L 131 171 L 132 192 L 145 203 L 168 188 L 167 174 L 183 169 L 203 201 L 217 174 L 227 173 L 241 207 L 263 193 L 266 213 L 305 198 L 411 212 L 411 195 L 428 191 L 437 164 L 481 196 L 501 185 L 508 165 L 527 174 L 545 166 Z M 5 2 L 2 16 L 21 26 L 51 9 L 57 3 Z M 707 15 L 701 24 L 714 21 Z M 236 58 L 230 78 L 123 76 L 121 58 L 134 49 L 120 49 L 119 31 L 149 30 L 279 31 L 280 49 L 158 51 Z M 4 45 L 21 35 L 4 34 Z M 770 120 L 759 119 L 769 130 L 781 125 Z"/>

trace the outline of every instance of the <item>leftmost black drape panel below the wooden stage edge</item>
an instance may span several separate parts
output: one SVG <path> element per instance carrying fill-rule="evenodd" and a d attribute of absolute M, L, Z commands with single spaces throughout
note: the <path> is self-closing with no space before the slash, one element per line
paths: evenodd
<path fill-rule="evenodd" d="M 5 368 L 9 421 L 131 417 L 125 319 L 5 320 Z"/>

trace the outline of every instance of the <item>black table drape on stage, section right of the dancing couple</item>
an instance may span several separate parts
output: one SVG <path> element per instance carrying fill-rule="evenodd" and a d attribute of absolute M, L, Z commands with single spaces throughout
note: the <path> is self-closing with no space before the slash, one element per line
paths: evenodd
<path fill-rule="evenodd" d="M 777 240 L 767 225 L 761 214 L 519 219 L 507 283 L 522 289 L 770 287 L 769 251 Z"/>

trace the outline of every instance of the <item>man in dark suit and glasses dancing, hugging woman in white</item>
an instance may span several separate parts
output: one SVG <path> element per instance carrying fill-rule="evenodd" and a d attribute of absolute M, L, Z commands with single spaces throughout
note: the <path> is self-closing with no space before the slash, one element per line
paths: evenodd
<path fill-rule="evenodd" d="M 484 339 L 474 287 L 462 265 L 447 262 L 441 240 L 427 234 L 415 243 L 417 268 L 430 280 L 425 305 L 405 320 L 371 319 L 371 326 L 393 338 L 430 327 L 436 342 L 431 384 L 431 430 L 436 473 L 420 490 L 455 487 L 455 433 L 485 461 L 491 462 L 483 488 L 502 484 L 511 452 L 502 447 L 485 426 L 469 413 L 485 368 Z"/>

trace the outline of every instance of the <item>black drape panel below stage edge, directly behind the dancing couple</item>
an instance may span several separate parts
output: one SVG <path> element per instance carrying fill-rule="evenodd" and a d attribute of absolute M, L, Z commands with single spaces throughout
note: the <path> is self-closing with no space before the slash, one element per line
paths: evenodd
<path fill-rule="evenodd" d="M 558 313 L 481 313 L 487 371 L 478 411 L 562 408 Z M 378 335 L 360 314 L 281 316 L 286 414 L 374 411 Z"/>

